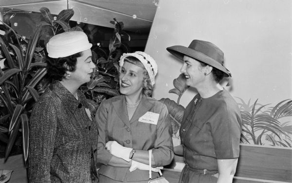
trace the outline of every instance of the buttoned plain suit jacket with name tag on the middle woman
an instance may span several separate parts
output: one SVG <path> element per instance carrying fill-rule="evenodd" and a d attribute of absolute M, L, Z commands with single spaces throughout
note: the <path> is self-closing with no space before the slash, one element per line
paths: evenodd
<path fill-rule="evenodd" d="M 157 125 L 140 122 L 139 118 L 147 111 L 159 114 Z M 116 141 L 122 146 L 139 150 L 152 149 L 157 166 L 171 163 L 173 154 L 172 129 L 167 107 L 151 98 L 142 97 L 131 120 L 128 120 L 125 95 L 105 100 L 98 108 L 95 120 L 98 121 L 97 159 L 101 165 L 99 174 L 116 181 L 148 180 L 147 170 L 136 169 L 129 172 L 129 167 L 113 167 L 108 165 L 112 155 L 105 149 L 108 141 Z M 156 172 L 152 172 L 157 177 Z"/>

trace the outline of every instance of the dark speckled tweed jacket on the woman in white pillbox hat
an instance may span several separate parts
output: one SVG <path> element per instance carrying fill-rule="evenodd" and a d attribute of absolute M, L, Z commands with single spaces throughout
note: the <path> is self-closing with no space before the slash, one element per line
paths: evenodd
<path fill-rule="evenodd" d="M 81 91 L 78 100 L 51 84 L 33 109 L 29 132 L 30 183 L 91 183 L 98 130 Z"/>

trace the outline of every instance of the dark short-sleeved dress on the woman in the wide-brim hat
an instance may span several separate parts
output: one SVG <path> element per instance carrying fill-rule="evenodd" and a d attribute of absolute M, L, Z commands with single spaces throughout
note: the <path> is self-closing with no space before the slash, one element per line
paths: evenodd
<path fill-rule="evenodd" d="M 237 103 L 225 89 L 209 98 L 197 94 L 180 128 L 185 163 L 180 183 L 216 183 L 217 159 L 239 157 L 241 125 Z"/>

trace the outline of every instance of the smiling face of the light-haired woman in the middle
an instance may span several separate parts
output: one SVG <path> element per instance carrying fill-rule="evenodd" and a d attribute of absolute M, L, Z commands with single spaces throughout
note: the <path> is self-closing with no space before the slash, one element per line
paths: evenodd
<path fill-rule="evenodd" d="M 122 94 L 128 96 L 140 95 L 143 89 L 144 69 L 129 62 L 124 62 L 119 79 Z"/>

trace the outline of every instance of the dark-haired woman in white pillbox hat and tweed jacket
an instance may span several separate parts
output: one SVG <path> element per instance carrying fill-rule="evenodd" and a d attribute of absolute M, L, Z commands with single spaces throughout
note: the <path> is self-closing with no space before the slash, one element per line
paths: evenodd
<path fill-rule="evenodd" d="M 96 175 L 97 124 L 78 88 L 95 65 L 85 33 L 65 32 L 47 43 L 47 74 L 53 82 L 30 121 L 30 183 L 91 183 Z"/>

